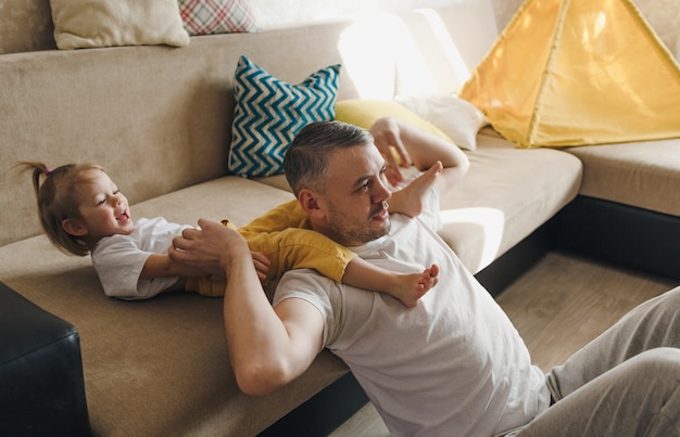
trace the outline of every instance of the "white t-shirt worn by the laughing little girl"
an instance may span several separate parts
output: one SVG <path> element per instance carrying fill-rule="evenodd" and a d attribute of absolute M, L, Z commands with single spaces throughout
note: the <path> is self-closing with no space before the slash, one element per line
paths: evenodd
<path fill-rule="evenodd" d="M 179 278 L 139 280 L 152 254 L 166 254 L 173 239 L 189 226 L 168 223 L 164 218 L 141 218 L 129 235 L 101 239 L 92 250 L 92 264 L 104 294 L 122 299 L 148 299 L 167 290 Z"/>

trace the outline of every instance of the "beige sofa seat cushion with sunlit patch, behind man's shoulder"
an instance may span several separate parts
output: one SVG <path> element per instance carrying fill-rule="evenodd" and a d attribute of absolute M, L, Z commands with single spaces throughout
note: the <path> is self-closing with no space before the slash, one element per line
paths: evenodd
<path fill-rule="evenodd" d="M 576 197 L 581 182 L 575 156 L 516 149 L 493 134 L 477 136 L 477 143 L 467 155 L 467 175 L 441 200 L 440 231 L 473 273 L 553 217 Z"/>

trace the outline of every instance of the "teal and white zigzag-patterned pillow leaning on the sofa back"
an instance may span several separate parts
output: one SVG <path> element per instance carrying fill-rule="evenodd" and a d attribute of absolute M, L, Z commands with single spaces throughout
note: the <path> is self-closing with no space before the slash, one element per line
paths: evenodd
<path fill-rule="evenodd" d="M 281 173 L 284 155 L 298 131 L 312 121 L 333 119 L 339 76 L 340 65 L 331 65 L 290 85 L 241 56 L 234 85 L 229 170 L 244 177 Z"/>

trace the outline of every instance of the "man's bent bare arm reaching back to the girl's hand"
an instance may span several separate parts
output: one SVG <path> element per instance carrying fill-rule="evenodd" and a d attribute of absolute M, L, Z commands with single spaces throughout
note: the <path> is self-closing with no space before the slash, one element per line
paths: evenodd
<path fill-rule="evenodd" d="M 225 331 L 237 383 L 248 395 L 269 394 L 300 376 L 322 349 L 322 314 L 295 298 L 272 308 L 243 237 L 207 220 L 199 227 L 175 239 L 171 257 L 224 269 Z"/>

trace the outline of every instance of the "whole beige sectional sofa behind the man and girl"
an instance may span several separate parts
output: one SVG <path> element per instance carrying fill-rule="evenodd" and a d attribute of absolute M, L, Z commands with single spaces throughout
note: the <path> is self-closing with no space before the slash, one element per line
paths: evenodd
<path fill-rule="evenodd" d="M 443 24 L 445 43 L 442 35 L 427 31 L 431 16 Z M 461 86 L 456 69 L 442 62 L 452 43 L 471 69 L 498 36 L 487 1 L 385 20 L 396 20 L 417 47 L 427 49 L 424 57 L 411 62 L 428 67 L 439 92 Z M 248 55 L 290 82 L 342 63 L 339 100 L 410 92 L 413 85 L 400 74 L 403 52 L 372 56 L 380 47 L 379 33 L 362 38 L 352 56 L 343 52 L 340 42 L 356 28 L 352 22 L 324 23 L 193 37 L 181 49 L 0 55 L 0 281 L 76 327 L 93 435 L 254 435 L 319 391 L 330 393 L 327 387 L 347 381 L 348 370 L 324 351 L 288 387 L 262 398 L 243 395 L 229 369 L 221 299 L 173 294 L 129 303 L 105 297 L 89 258 L 66 256 L 40 234 L 30 182 L 11 165 L 22 159 L 50 166 L 95 162 L 127 194 L 138 218 L 163 216 L 185 223 L 229 218 L 244 224 L 292 194 L 281 176 L 252 180 L 228 173 L 239 56 Z M 351 57 L 362 48 L 367 56 L 357 68 Z M 399 62 L 389 57 L 396 55 Z M 377 85 L 366 91 L 367 79 Z M 647 208 L 678 221 L 680 210 L 669 206 L 677 204 L 669 181 L 680 175 L 679 140 L 622 146 L 630 154 L 615 145 L 566 153 L 519 150 L 487 128 L 477 142 L 478 149 L 468 152 L 467 177 L 443 200 L 441 235 L 494 293 L 540 256 L 543 243 L 555 244 L 564 232 L 570 240 L 571 230 L 559 233 L 559 214 L 580 195 Z M 650 150 L 664 158 L 647 155 Z M 645 159 L 655 164 L 631 176 L 612 156 L 627 156 L 633 167 L 630 163 Z M 657 183 L 644 185 L 657 176 L 657 183 L 669 184 L 670 191 L 658 192 Z M 612 185 L 612 180 L 622 182 Z M 571 217 L 578 215 L 574 209 Z M 340 397 L 323 408 L 342 411 L 351 402 Z M 302 420 L 305 434 L 325 432 L 315 430 L 314 417 Z M 11 417 L 0 421 L 11 426 Z"/>

